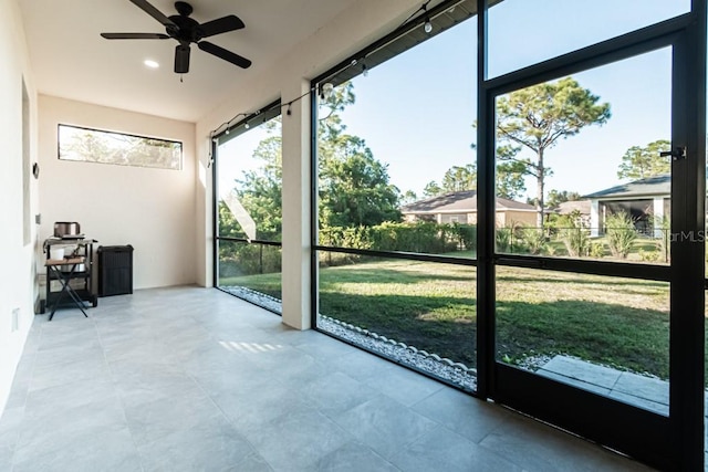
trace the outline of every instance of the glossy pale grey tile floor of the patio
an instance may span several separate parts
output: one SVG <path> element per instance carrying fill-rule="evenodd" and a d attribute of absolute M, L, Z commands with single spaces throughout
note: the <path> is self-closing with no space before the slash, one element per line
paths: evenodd
<path fill-rule="evenodd" d="M 215 289 L 37 316 L 0 472 L 641 471 Z"/>

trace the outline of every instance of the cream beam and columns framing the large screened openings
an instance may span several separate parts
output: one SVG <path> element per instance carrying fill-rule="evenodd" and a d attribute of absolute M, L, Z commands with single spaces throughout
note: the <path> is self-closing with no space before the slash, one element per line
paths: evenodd
<path fill-rule="evenodd" d="M 361 0 L 355 6 L 335 17 L 312 36 L 295 45 L 287 55 L 277 61 L 261 75 L 248 83 L 239 83 L 231 98 L 197 123 L 197 157 L 199 166 L 206 169 L 208 161 L 209 133 L 239 113 L 251 113 L 281 97 L 287 103 L 301 95 L 301 84 L 310 81 L 351 54 L 397 28 L 413 11 L 420 7 L 417 0 Z M 257 57 L 254 57 L 257 60 Z M 309 114 L 301 113 L 300 106 L 308 108 L 309 97 L 293 106 L 292 115 L 283 123 L 283 188 L 295 189 L 306 195 L 284 195 L 290 211 L 283 214 L 283 322 L 306 328 L 309 323 L 309 281 L 303 281 L 303 268 L 309 262 L 309 172 L 302 172 L 303 159 L 310 159 Z M 306 109 L 305 109 L 306 112 Z M 284 133 L 289 128 L 291 133 Z M 301 135 L 298 135 L 298 130 Z M 200 268 L 198 283 L 211 284 L 211 179 L 206 176 L 205 185 L 198 187 L 197 217 L 200 221 L 197 247 L 200 248 L 197 264 Z M 301 207 L 295 209 L 293 202 Z M 287 209 L 283 208 L 283 212 Z M 304 231 L 304 232 L 303 232 Z M 289 235 L 298 244 L 288 241 Z M 296 247 L 298 245 L 298 247 Z M 308 277 L 309 279 L 309 277 Z M 295 283 L 296 282 L 296 283 Z M 290 290 L 292 287 L 293 290 Z"/>

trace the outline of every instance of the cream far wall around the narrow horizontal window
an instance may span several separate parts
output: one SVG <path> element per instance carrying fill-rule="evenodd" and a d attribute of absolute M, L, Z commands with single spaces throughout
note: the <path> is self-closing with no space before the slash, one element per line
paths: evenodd
<path fill-rule="evenodd" d="M 59 124 L 181 141 L 183 169 L 59 160 Z M 134 247 L 135 290 L 195 283 L 194 124 L 40 95 L 39 149 L 41 241 L 76 221 L 94 249 Z"/>

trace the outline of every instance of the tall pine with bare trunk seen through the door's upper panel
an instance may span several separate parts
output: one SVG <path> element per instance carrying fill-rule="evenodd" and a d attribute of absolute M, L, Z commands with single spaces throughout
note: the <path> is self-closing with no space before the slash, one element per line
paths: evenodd
<path fill-rule="evenodd" d="M 585 126 L 606 123 L 610 104 L 598 101 L 572 77 L 522 88 L 497 101 L 497 159 L 520 164 L 524 175 L 535 179 L 539 228 L 543 225 L 543 185 L 551 172 L 545 166 L 545 151 Z M 533 157 L 519 157 L 522 148 L 530 149 Z"/>

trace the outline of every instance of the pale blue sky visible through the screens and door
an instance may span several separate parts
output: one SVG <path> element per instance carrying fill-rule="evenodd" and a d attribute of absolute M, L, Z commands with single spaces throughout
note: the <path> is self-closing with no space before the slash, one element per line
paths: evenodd
<path fill-rule="evenodd" d="M 597 0 L 592 7 L 579 0 L 506 0 L 490 11 L 489 73 L 529 65 L 688 9 L 688 0 Z M 343 113 L 347 132 L 363 137 L 374 156 L 388 164 L 392 183 L 402 191 L 420 196 L 449 167 L 476 159 L 470 148 L 477 108 L 475 41 L 476 21 L 470 20 L 354 80 L 356 103 Z M 613 116 L 548 151 L 554 174 L 545 189 L 590 193 L 618 182 L 617 167 L 627 148 L 669 138 L 670 50 L 573 76 L 610 103 Z M 251 130 L 233 139 L 222 150 L 222 168 L 227 155 L 235 156 L 235 165 L 246 164 L 237 156 L 250 157 L 262 137 Z M 532 196 L 534 183 L 528 181 L 527 189 Z"/>

